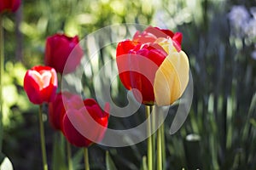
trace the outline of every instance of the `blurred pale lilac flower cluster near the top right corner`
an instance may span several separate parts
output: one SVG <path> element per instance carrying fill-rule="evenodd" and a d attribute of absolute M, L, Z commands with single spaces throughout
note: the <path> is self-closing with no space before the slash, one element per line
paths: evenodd
<path fill-rule="evenodd" d="M 237 5 L 232 7 L 228 17 L 230 19 L 231 26 L 241 29 L 247 23 L 250 15 L 247 8 L 242 5 Z"/>

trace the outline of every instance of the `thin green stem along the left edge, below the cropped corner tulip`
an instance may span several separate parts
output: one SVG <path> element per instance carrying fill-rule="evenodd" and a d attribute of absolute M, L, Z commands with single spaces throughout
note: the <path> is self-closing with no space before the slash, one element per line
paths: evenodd
<path fill-rule="evenodd" d="M 4 62 L 4 45 L 3 45 L 3 15 L 0 14 L 0 153 L 3 144 L 3 62 Z"/>

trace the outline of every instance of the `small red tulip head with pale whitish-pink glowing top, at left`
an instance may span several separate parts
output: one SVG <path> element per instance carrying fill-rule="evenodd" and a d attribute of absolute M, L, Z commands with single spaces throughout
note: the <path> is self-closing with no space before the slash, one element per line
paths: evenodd
<path fill-rule="evenodd" d="M 41 105 L 53 101 L 57 86 L 57 74 L 54 68 L 38 65 L 26 71 L 24 89 L 33 104 Z"/>

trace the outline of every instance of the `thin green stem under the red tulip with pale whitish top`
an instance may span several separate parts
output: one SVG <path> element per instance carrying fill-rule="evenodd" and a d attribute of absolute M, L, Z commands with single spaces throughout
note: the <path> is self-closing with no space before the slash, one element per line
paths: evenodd
<path fill-rule="evenodd" d="M 44 139 L 44 122 L 43 122 L 42 105 L 39 105 L 39 126 L 40 126 L 41 150 L 42 150 L 44 170 L 48 170 L 46 149 L 45 149 L 45 139 Z"/>

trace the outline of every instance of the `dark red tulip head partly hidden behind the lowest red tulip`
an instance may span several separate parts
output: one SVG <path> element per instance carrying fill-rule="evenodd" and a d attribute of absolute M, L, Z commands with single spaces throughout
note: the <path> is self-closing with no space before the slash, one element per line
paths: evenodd
<path fill-rule="evenodd" d="M 79 95 L 71 94 L 69 92 L 60 92 L 56 95 L 55 100 L 48 105 L 49 109 L 49 123 L 56 130 L 62 129 L 62 119 L 66 113 L 68 100 L 78 97 Z"/>

